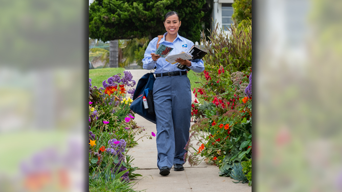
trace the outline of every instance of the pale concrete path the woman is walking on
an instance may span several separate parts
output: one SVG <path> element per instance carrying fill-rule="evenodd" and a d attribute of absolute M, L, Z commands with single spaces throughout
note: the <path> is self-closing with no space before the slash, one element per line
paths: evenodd
<path fill-rule="evenodd" d="M 133 75 L 133 79 L 138 82 L 139 78 L 149 73 L 149 70 L 128 70 Z M 194 100 L 194 96 L 192 97 Z M 136 135 L 136 139 L 143 134 L 156 133 L 155 124 L 135 115 L 135 121 L 139 126 L 144 126 L 146 131 Z M 193 124 L 193 123 L 192 123 Z M 233 183 L 230 177 L 218 176 L 219 169 L 216 166 L 208 165 L 202 161 L 198 166 L 190 167 L 184 164 L 184 171 L 175 172 L 173 168 L 168 176 L 161 176 L 157 168 L 157 146 L 155 137 L 152 139 L 143 138 L 139 140 L 139 145 L 131 148 L 128 154 L 132 155 L 134 167 L 139 167 L 134 173 L 142 174 L 133 180 L 136 182 L 136 190 L 146 192 L 252 192 L 252 188 L 247 183 Z M 196 143 L 193 145 L 195 146 Z"/>

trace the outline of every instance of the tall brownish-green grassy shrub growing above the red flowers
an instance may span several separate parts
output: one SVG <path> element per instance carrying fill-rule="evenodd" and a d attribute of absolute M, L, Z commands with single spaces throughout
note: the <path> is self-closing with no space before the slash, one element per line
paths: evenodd
<path fill-rule="evenodd" d="M 202 39 L 204 48 L 209 50 L 203 58 L 205 68 L 224 67 L 230 73 L 246 71 L 252 66 L 252 26 L 244 29 L 235 25 L 229 30 L 227 37 L 222 29 L 218 31 L 218 24 L 208 37 Z"/>

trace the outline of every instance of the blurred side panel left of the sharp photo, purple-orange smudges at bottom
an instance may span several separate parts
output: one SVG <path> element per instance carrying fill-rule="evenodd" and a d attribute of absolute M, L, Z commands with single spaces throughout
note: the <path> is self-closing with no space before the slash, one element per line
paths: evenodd
<path fill-rule="evenodd" d="M 84 191 L 82 0 L 0 0 L 0 191 Z"/>

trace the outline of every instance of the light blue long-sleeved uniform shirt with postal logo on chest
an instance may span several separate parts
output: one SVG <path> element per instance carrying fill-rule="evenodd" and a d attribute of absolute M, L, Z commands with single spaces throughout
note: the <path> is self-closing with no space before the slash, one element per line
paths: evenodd
<path fill-rule="evenodd" d="M 191 49 L 193 45 L 193 42 L 191 40 L 183 38 L 179 36 L 177 33 L 177 37 L 173 40 L 173 42 L 169 42 L 165 40 L 165 36 L 167 34 L 168 33 L 166 32 L 164 34 L 164 37 L 160 39 L 159 45 L 163 44 L 163 45 L 173 48 L 173 50 L 170 52 L 169 55 L 176 55 L 182 51 L 187 52 Z M 158 38 L 153 38 L 150 41 L 149 46 L 146 48 L 145 58 L 143 58 L 144 69 L 151 70 L 155 66 L 157 66 L 154 72 L 155 74 L 167 73 L 167 72 L 172 72 L 172 71 L 187 71 L 186 69 L 184 70 L 179 69 L 178 67 L 176 67 L 176 64 L 169 63 L 168 61 L 165 60 L 165 58 L 158 58 L 157 61 L 152 60 L 151 53 L 154 53 L 157 50 L 157 42 L 158 42 Z M 201 73 L 202 71 L 204 71 L 204 63 L 202 59 L 199 60 L 198 62 L 191 61 L 191 66 L 189 68 L 196 73 Z"/>

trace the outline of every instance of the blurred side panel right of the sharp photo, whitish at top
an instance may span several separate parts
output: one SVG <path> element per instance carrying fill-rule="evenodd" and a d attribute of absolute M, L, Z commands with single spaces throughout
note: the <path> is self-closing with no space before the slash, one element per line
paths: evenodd
<path fill-rule="evenodd" d="M 254 1 L 257 192 L 342 191 L 342 1 Z"/>

